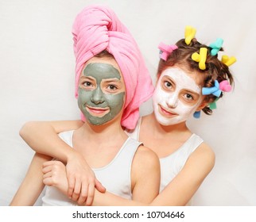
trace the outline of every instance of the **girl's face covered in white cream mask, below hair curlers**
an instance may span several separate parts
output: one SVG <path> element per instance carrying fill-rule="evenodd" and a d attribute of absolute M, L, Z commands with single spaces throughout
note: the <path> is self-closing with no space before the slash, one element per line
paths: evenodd
<path fill-rule="evenodd" d="M 153 109 L 160 124 L 187 121 L 202 101 L 201 87 L 185 71 L 170 67 L 161 73 L 153 94 Z"/>

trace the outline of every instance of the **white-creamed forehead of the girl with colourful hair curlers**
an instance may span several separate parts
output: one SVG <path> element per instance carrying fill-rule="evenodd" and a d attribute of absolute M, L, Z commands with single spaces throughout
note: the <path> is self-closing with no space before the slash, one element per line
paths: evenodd
<path fill-rule="evenodd" d="M 185 71 L 179 67 L 169 67 L 162 72 L 161 78 L 171 78 L 176 83 L 176 88 L 193 90 L 200 94 L 200 78 L 196 77 L 197 74 Z"/>

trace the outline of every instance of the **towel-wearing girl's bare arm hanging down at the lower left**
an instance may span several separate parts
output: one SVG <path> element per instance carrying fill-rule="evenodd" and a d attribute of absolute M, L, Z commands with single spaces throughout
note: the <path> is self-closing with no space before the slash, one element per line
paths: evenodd
<path fill-rule="evenodd" d="M 36 153 L 30 163 L 29 170 L 25 175 L 21 186 L 17 190 L 11 206 L 34 205 L 45 185 L 43 184 L 42 164 L 50 158 Z"/>

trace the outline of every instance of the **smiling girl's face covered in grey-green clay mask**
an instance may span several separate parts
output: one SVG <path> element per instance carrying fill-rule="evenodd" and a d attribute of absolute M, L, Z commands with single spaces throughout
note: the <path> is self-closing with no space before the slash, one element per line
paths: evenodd
<path fill-rule="evenodd" d="M 87 121 L 106 124 L 120 113 L 125 88 L 119 71 L 108 63 L 89 63 L 80 77 L 78 105 Z"/>

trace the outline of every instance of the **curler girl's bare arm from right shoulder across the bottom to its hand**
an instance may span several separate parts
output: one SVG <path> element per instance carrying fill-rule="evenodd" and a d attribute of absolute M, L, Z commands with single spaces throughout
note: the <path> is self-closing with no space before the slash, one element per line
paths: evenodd
<path fill-rule="evenodd" d="M 204 159 L 200 160 L 202 157 L 204 157 Z M 178 174 L 176 178 L 174 178 L 173 181 L 151 201 L 142 201 L 142 198 L 133 198 L 133 200 L 130 201 L 109 192 L 100 193 L 98 190 L 95 190 L 95 197 L 92 205 L 186 205 L 199 188 L 200 184 L 204 181 L 208 172 L 211 171 L 213 164 L 214 154 L 209 150 L 209 147 L 204 144 L 202 147 L 199 147 L 196 154 L 193 154 L 192 157 L 188 159 L 188 163 L 186 163 L 184 169 L 180 171 L 180 174 Z M 197 174 L 195 174 L 195 170 L 198 171 Z M 68 179 L 63 163 L 58 161 L 46 162 L 44 164 L 43 172 L 45 173 L 44 182 L 46 185 L 56 186 L 62 193 L 67 194 Z M 142 196 L 143 195 L 144 193 L 142 193 Z"/>

